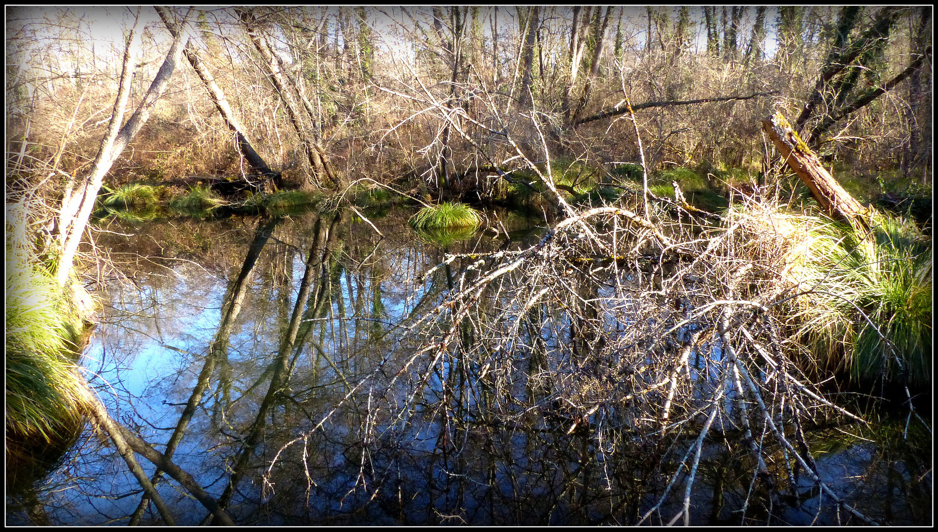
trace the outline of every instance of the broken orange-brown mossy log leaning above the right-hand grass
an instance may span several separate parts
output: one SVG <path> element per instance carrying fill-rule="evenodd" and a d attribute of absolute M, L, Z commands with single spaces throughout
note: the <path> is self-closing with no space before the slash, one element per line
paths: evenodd
<path fill-rule="evenodd" d="M 764 118 L 762 125 L 765 133 L 775 143 L 776 149 L 785 157 L 789 168 L 808 185 L 811 195 L 827 214 L 844 221 L 856 222 L 869 229 L 866 216 L 871 214 L 870 209 L 861 205 L 834 180 L 830 172 L 821 165 L 818 156 L 798 137 L 781 112 Z"/>

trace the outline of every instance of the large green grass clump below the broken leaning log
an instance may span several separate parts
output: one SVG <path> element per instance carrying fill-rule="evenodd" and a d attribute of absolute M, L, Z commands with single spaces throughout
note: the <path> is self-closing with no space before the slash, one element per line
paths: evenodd
<path fill-rule="evenodd" d="M 809 348 L 858 383 L 898 383 L 907 372 L 911 384 L 930 385 L 930 239 L 897 216 L 877 216 L 866 239 L 820 219 L 806 229 L 813 240 L 790 262 L 801 261 L 799 288 L 814 290 L 799 308 Z"/>

